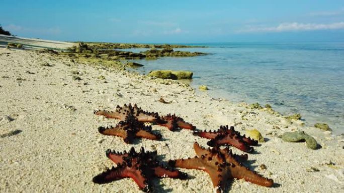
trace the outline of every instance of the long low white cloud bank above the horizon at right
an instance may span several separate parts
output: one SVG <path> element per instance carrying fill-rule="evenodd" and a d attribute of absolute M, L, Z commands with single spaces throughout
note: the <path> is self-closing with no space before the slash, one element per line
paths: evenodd
<path fill-rule="evenodd" d="M 315 30 L 338 30 L 344 29 L 344 22 L 331 23 L 331 24 L 303 24 L 303 23 L 282 23 L 275 27 L 247 27 L 237 31 L 238 33 L 245 32 L 288 32 L 288 31 L 315 31 Z"/>

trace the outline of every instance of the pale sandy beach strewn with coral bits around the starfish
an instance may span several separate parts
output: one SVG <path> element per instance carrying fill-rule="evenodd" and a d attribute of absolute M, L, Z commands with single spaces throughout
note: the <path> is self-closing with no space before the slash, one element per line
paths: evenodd
<path fill-rule="evenodd" d="M 41 66 L 47 62 L 54 66 Z M 72 71 L 80 72 L 77 76 L 82 80 L 72 80 Z M 108 83 L 98 79 L 101 75 Z M 0 192 L 141 192 L 130 178 L 102 185 L 92 182 L 95 175 L 115 165 L 105 156 L 106 149 L 123 151 L 133 146 L 139 150 L 143 146 L 157 150 L 163 160 L 168 160 L 195 156 L 194 141 L 206 146 L 207 140 L 193 136 L 192 131 L 171 132 L 160 126 L 153 129 L 162 134 L 163 140 L 143 139 L 134 145 L 125 144 L 120 137 L 100 134 L 99 126 L 118 121 L 96 116 L 93 110 L 125 103 L 137 103 L 160 115 L 176 113 L 202 130 L 218 129 L 223 124 L 235 124 L 240 132 L 259 129 L 267 142 L 255 147 L 259 153 L 249 154 L 248 163 L 251 169 L 272 178 L 278 187 L 235 179 L 228 184 L 228 192 L 344 191 L 341 136 L 304 127 L 302 121 L 290 122 L 264 110 L 251 110 L 245 104 L 211 100 L 206 93 L 190 87 L 156 82 L 126 72 L 74 64 L 68 58 L 0 50 Z M 172 103 L 154 101 L 160 97 Z M 6 136 L 15 130 L 22 132 Z M 304 143 L 287 143 L 277 137 L 292 130 L 311 134 L 322 148 L 312 150 Z M 271 131 L 274 134 L 268 135 Z M 259 169 L 261 164 L 267 169 Z M 319 171 L 307 171 L 311 167 Z M 206 172 L 183 171 L 193 178 L 155 179 L 156 191 L 212 192 Z"/>

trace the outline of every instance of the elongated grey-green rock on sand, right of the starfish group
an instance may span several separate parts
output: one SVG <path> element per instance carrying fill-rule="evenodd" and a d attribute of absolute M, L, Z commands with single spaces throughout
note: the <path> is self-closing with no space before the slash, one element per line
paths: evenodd
<path fill-rule="evenodd" d="M 304 131 L 285 132 L 282 135 L 282 139 L 287 142 L 306 141 L 306 145 L 310 149 L 316 149 L 318 147 L 316 140 Z"/>

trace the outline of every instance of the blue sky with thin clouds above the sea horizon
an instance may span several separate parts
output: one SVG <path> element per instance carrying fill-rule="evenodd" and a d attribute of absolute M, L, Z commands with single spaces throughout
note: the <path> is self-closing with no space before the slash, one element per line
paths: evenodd
<path fill-rule="evenodd" d="M 138 43 L 344 41 L 344 1 L 1 2 L 20 37 Z"/>

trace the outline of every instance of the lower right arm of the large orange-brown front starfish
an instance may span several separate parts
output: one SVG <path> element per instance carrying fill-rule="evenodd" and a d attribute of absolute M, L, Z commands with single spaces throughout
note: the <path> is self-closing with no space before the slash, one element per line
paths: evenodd
<path fill-rule="evenodd" d="M 258 185 L 271 187 L 274 184 L 274 181 L 272 179 L 263 177 L 260 174 L 257 174 L 255 171 L 249 170 L 249 168 L 232 164 L 230 166 L 231 175 L 238 179 L 245 179 L 246 181 L 249 181 L 251 183 L 255 183 Z"/>

